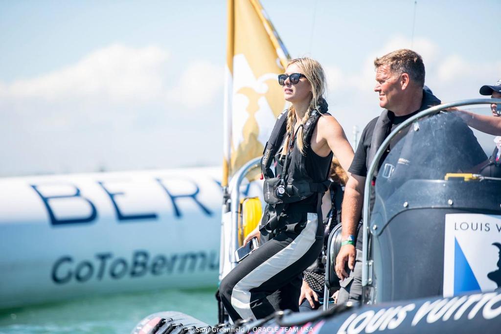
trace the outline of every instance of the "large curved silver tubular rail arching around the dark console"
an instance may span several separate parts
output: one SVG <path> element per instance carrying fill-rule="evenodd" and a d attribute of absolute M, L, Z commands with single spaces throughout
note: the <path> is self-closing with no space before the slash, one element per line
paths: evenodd
<path fill-rule="evenodd" d="M 374 174 L 374 171 L 376 170 L 376 166 L 379 164 L 379 160 L 381 159 L 383 153 L 386 150 L 386 147 L 390 143 L 390 141 L 396 136 L 396 134 L 405 128 L 407 125 L 411 124 L 412 122 L 416 121 L 417 119 L 423 118 L 425 116 L 428 116 L 430 114 L 436 113 L 437 111 L 441 111 L 444 109 L 448 108 L 454 108 L 454 107 L 460 107 L 460 106 L 468 106 L 468 105 L 476 105 L 476 104 L 501 104 L 501 99 L 470 99 L 470 100 L 461 100 L 461 101 L 455 101 L 455 102 L 450 102 L 450 103 L 445 103 L 445 104 L 440 104 L 431 108 L 428 108 L 426 110 L 423 110 L 416 115 L 412 116 L 411 118 L 405 120 L 402 122 L 400 125 L 398 125 L 389 135 L 386 137 L 386 139 L 383 141 L 381 146 L 376 152 L 376 155 L 374 156 L 374 159 L 372 160 L 372 163 L 369 167 L 369 170 L 367 171 L 367 177 L 365 179 L 365 186 L 364 186 L 364 204 L 363 204 L 363 220 L 362 220 L 362 228 L 363 228 L 363 242 L 362 242 L 362 286 L 367 286 L 368 285 L 368 242 L 369 242 L 369 218 L 370 218 L 370 190 L 371 190 L 371 181 L 372 181 L 372 175 Z"/>

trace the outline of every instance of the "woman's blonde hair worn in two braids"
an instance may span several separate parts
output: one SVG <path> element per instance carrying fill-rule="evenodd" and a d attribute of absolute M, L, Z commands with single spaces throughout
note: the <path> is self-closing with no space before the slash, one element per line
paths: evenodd
<path fill-rule="evenodd" d="M 312 88 L 312 99 L 310 100 L 310 105 L 308 106 L 308 110 L 306 111 L 305 116 L 301 120 L 301 124 L 305 124 L 305 122 L 310 117 L 312 111 L 318 110 L 319 99 L 323 98 L 325 92 L 327 91 L 327 80 L 322 65 L 320 65 L 320 63 L 317 62 L 316 60 L 313 60 L 308 57 L 296 58 L 289 61 L 287 67 L 289 67 L 292 64 L 296 64 L 301 69 L 301 71 L 305 75 L 306 79 L 308 80 Z M 295 123 L 296 123 L 296 110 L 294 109 L 294 106 L 291 105 L 287 113 L 287 137 L 284 142 L 284 147 L 282 149 L 282 155 L 287 154 L 287 150 L 289 148 L 289 140 L 291 139 L 290 136 L 294 129 Z M 296 140 L 298 142 L 299 151 L 301 152 L 301 154 L 304 155 L 305 143 L 303 141 L 303 127 L 299 128 Z M 306 143 L 306 145 L 308 144 L 309 143 Z"/>

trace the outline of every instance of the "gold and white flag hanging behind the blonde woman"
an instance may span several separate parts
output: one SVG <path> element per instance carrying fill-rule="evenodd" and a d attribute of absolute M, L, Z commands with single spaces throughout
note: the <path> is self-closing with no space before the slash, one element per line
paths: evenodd
<path fill-rule="evenodd" d="M 259 157 L 285 109 L 277 76 L 289 54 L 257 0 L 228 0 L 222 186 Z"/>

